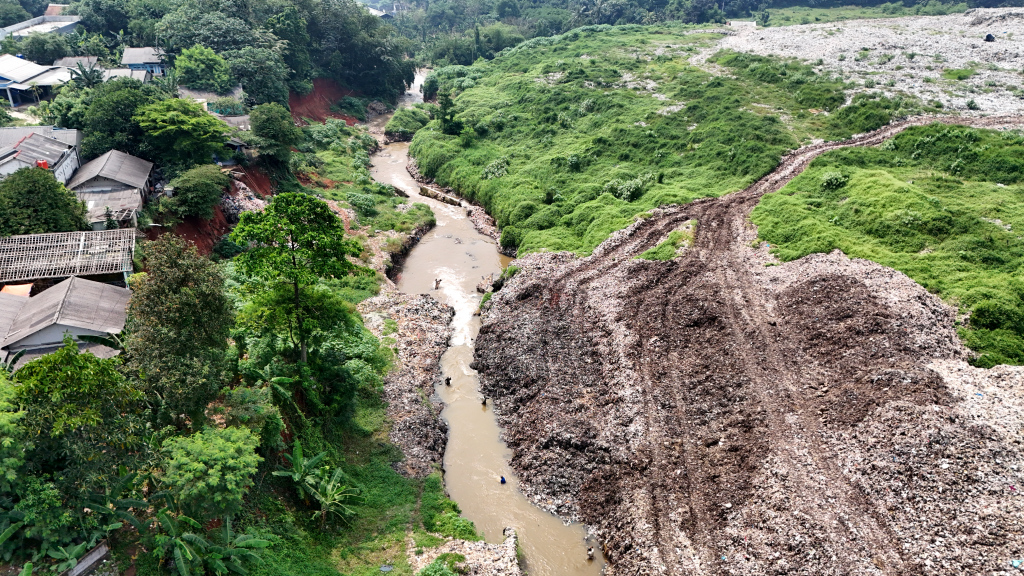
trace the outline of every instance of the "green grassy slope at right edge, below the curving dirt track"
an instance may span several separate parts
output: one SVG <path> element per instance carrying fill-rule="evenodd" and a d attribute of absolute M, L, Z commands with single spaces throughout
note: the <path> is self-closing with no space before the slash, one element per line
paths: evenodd
<path fill-rule="evenodd" d="M 821 156 L 752 218 L 782 260 L 843 250 L 970 312 L 977 363 L 1024 363 L 1024 137 L 911 128 Z"/>

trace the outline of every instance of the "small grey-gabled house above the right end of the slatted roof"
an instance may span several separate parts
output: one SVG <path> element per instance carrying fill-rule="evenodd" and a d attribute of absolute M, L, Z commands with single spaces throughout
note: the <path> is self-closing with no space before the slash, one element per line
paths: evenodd
<path fill-rule="evenodd" d="M 82 166 L 68 182 L 85 203 L 93 230 L 103 230 L 108 210 L 122 227 L 135 227 L 142 202 L 153 191 L 153 162 L 112 150 Z"/>

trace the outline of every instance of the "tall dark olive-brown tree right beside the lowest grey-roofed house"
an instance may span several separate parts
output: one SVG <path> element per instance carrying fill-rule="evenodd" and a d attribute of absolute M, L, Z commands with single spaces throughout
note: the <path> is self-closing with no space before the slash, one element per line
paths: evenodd
<path fill-rule="evenodd" d="M 220 268 L 174 235 L 144 245 L 148 272 L 132 278 L 126 365 L 163 419 L 204 419 L 222 384 L 231 306 Z"/>

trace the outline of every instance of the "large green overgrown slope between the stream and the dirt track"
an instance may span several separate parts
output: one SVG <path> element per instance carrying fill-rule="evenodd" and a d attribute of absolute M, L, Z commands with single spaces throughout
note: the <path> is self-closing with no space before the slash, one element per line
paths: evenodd
<path fill-rule="evenodd" d="M 801 142 L 911 112 L 870 96 L 840 109 L 844 85 L 805 64 L 722 52 L 692 66 L 718 38 L 592 27 L 439 69 L 424 85 L 457 94 L 462 131 L 435 120 L 413 156 L 481 202 L 506 246 L 587 254 L 637 213 L 741 189 Z"/>

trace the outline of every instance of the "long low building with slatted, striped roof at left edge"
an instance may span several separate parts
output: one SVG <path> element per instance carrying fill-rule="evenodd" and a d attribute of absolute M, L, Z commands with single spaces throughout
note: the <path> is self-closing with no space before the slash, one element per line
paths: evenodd
<path fill-rule="evenodd" d="M 127 279 L 134 255 L 134 229 L 7 236 L 0 238 L 0 284 L 70 276 Z"/>

